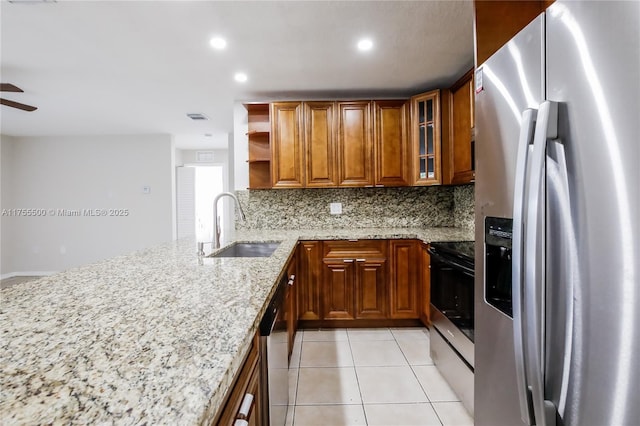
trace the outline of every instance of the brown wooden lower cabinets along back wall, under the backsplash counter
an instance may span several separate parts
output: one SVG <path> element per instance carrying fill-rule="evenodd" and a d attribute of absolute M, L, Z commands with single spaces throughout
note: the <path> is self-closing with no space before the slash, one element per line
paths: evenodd
<path fill-rule="evenodd" d="M 298 248 L 301 327 L 424 321 L 417 240 L 303 241 Z"/>

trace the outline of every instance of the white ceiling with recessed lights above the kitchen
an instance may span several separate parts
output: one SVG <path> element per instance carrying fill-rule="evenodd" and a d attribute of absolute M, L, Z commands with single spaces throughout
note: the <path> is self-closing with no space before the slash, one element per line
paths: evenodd
<path fill-rule="evenodd" d="M 473 65 L 471 0 L 2 0 L 1 13 L 0 79 L 25 91 L 2 96 L 38 107 L 1 107 L 14 136 L 169 133 L 214 147 L 237 101 L 410 96 Z M 363 36 L 372 51 L 357 51 Z"/>

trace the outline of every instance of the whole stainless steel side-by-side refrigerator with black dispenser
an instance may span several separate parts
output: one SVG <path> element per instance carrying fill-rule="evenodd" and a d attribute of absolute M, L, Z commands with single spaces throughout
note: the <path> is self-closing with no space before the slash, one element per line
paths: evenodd
<path fill-rule="evenodd" d="M 640 2 L 476 70 L 475 422 L 640 425 Z"/>

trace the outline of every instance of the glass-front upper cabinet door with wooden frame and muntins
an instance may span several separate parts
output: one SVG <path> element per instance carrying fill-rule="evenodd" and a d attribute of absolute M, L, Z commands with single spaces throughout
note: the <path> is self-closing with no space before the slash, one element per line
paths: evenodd
<path fill-rule="evenodd" d="M 440 91 L 411 98 L 413 184 L 437 185 L 440 177 Z"/>

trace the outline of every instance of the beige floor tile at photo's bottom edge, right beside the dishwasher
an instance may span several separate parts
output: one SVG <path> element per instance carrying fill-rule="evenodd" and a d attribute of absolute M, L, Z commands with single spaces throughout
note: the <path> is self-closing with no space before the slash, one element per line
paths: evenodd
<path fill-rule="evenodd" d="M 366 425 L 362 405 L 299 405 L 294 426 Z"/>

